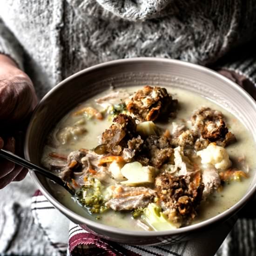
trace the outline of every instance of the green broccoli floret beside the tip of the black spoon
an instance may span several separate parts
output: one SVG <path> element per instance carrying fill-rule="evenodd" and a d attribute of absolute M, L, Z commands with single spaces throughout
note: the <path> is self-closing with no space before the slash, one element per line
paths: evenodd
<path fill-rule="evenodd" d="M 102 213 L 108 209 L 105 206 L 104 186 L 95 178 L 88 177 L 88 184 L 81 187 L 77 196 L 81 205 L 88 208 L 90 213 Z"/>

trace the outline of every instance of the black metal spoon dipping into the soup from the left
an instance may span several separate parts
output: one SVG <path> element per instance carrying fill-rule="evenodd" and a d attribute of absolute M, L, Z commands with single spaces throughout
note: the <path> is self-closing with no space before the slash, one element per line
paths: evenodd
<path fill-rule="evenodd" d="M 35 165 L 32 162 L 29 162 L 25 160 L 24 158 L 15 155 L 7 150 L 0 149 L 0 156 L 14 162 L 16 164 L 19 164 L 20 166 L 23 166 L 25 168 L 30 169 L 31 171 L 35 171 L 40 173 L 41 175 L 46 176 L 48 179 L 56 182 L 57 184 L 61 185 L 64 189 L 66 189 L 71 195 L 75 195 L 74 188 L 68 183 L 62 180 L 60 177 L 54 175 L 52 172 L 48 171 L 47 169 L 41 168 L 38 165 Z"/>

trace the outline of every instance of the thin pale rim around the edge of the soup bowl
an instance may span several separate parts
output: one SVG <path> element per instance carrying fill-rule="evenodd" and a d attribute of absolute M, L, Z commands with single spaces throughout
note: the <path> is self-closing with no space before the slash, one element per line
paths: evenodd
<path fill-rule="evenodd" d="M 46 99 L 58 88 L 60 88 L 63 84 L 67 83 L 68 81 L 74 79 L 77 76 L 80 76 L 81 74 L 86 74 L 88 72 L 97 70 L 98 68 L 102 68 L 102 67 L 109 67 L 112 65 L 116 65 L 116 64 L 127 64 L 127 63 L 132 63 L 132 62 L 140 62 L 140 61 L 146 61 L 146 62 L 162 62 L 164 63 L 171 63 L 171 64 L 177 64 L 177 65 L 182 65 L 182 66 L 186 66 L 189 68 L 193 68 L 193 69 L 197 69 L 198 71 L 201 71 L 203 73 L 207 73 L 210 74 L 212 76 L 215 76 L 216 78 L 224 81 L 225 83 L 228 83 L 229 86 L 235 88 L 236 90 L 238 90 L 241 94 L 243 94 L 243 97 L 245 97 L 247 99 L 247 101 L 250 101 L 250 103 L 252 103 L 255 108 L 256 108 L 256 101 L 241 87 L 239 87 L 235 82 L 229 80 L 228 78 L 224 77 L 223 75 L 217 73 L 216 71 L 209 69 L 208 67 L 203 67 L 200 66 L 198 64 L 194 64 L 194 63 L 190 63 L 187 61 L 180 61 L 180 60 L 174 60 L 174 59 L 166 59 L 166 58 L 156 58 L 156 57 L 136 57 L 136 58 L 129 58 L 129 59 L 118 59 L 118 60 L 114 60 L 114 61 L 107 61 L 107 62 L 103 62 L 101 64 L 97 64 L 94 65 L 92 67 L 88 67 L 85 68 L 75 74 L 72 74 L 71 76 L 67 77 L 66 79 L 64 79 L 63 81 L 61 81 L 60 83 L 58 83 L 56 86 L 54 86 L 54 88 L 52 88 L 49 92 L 47 92 L 47 94 L 41 99 L 41 101 L 38 103 L 37 107 L 34 109 L 34 112 L 31 116 L 29 125 L 27 127 L 27 132 L 26 132 L 26 136 L 25 136 L 25 142 L 24 142 L 24 155 L 25 158 L 27 160 L 30 160 L 30 156 L 29 156 L 29 151 L 28 151 L 28 145 L 29 145 L 29 134 L 30 134 L 30 130 L 32 128 L 32 120 L 34 119 L 34 117 L 37 114 L 37 109 L 40 108 L 40 106 L 46 101 Z M 89 220 L 86 217 L 83 217 L 79 214 L 74 213 L 71 209 L 68 209 L 67 207 L 65 207 L 64 205 L 61 204 L 61 202 L 59 202 L 57 199 L 54 198 L 53 195 L 51 195 L 47 189 L 44 188 L 44 186 L 41 184 L 39 178 L 37 177 L 36 173 L 29 170 L 30 175 L 32 176 L 32 179 L 34 180 L 34 182 L 37 184 L 38 188 L 40 189 L 40 191 L 42 192 L 42 194 L 47 198 L 47 200 L 49 202 L 51 202 L 55 208 L 59 209 L 63 214 L 65 214 L 66 216 L 71 217 L 73 220 L 76 220 L 77 223 L 80 224 L 86 224 L 88 226 L 92 226 L 96 229 L 101 229 L 103 231 L 108 231 L 111 233 L 117 233 L 117 234 L 121 234 L 121 235 L 125 235 L 125 236 L 146 236 L 146 237 L 155 237 L 155 236 L 169 236 L 169 235 L 180 235 L 183 233 L 189 233 L 189 232 L 195 232 L 198 231 L 199 229 L 203 229 L 206 228 L 214 223 L 219 223 L 221 221 L 224 221 L 226 219 L 228 219 L 229 217 L 235 215 L 235 213 L 237 211 L 239 211 L 240 209 L 242 209 L 242 207 L 245 205 L 246 202 L 249 201 L 249 199 L 255 195 L 256 192 L 256 184 L 254 184 L 252 186 L 252 188 L 249 189 L 249 191 L 246 192 L 245 195 L 243 195 L 243 197 L 236 202 L 233 206 L 231 206 L 229 209 L 225 210 L 224 212 L 209 218 L 205 221 L 202 222 L 198 222 L 186 227 L 182 227 L 179 229 L 172 229 L 172 230 L 164 230 L 164 231 L 153 231 L 153 232 L 148 232 L 148 231 L 135 231 L 135 230 L 127 230 L 127 229 L 121 229 L 121 228 L 115 228 L 112 226 L 108 226 L 93 220 Z"/>

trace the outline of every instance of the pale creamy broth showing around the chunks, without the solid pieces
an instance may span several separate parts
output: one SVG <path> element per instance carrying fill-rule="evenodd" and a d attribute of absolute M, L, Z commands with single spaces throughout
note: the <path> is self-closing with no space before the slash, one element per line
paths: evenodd
<path fill-rule="evenodd" d="M 133 93 L 139 88 L 141 87 L 131 87 L 127 88 L 126 90 Z M 221 191 L 214 192 L 206 201 L 201 202 L 201 205 L 197 210 L 198 216 L 196 216 L 195 220 L 192 223 L 202 222 L 229 209 L 232 205 L 234 205 L 243 197 L 243 195 L 249 188 L 254 174 L 254 169 L 256 167 L 256 158 L 254 156 L 256 147 L 255 142 L 252 136 L 249 134 L 248 130 L 243 126 L 243 124 L 238 119 L 236 119 L 234 115 L 230 114 L 219 105 L 197 94 L 187 92 L 182 89 L 167 89 L 168 93 L 173 95 L 173 98 L 178 99 L 179 110 L 177 112 L 176 118 L 172 119 L 168 124 L 156 122 L 157 125 L 171 130 L 172 121 L 179 123 L 182 120 L 189 120 L 192 112 L 202 106 L 207 106 L 219 110 L 223 113 L 225 117 L 226 125 L 229 128 L 229 131 L 235 134 L 237 139 L 236 143 L 233 143 L 226 148 L 229 153 L 230 159 L 233 160 L 245 156 L 246 165 L 249 166 L 248 178 L 243 179 L 241 182 L 233 181 L 229 184 L 226 184 Z M 82 106 L 91 106 L 97 108 L 98 110 L 101 110 L 101 107 L 97 105 L 94 100 L 101 97 L 102 95 L 108 94 L 110 91 L 111 90 L 105 91 L 104 93 L 99 94 L 84 103 L 81 103 L 79 106 L 77 106 L 76 109 L 80 109 Z M 50 142 L 47 142 L 47 145 L 45 146 L 43 151 L 42 162 L 47 159 L 48 154 L 51 152 L 68 155 L 71 151 L 78 150 L 80 148 L 92 149 L 99 145 L 99 136 L 102 134 L 102 132 L 104 132 L 105 129 L 107 129 L 111 125 L 112 120 L 109 118 L 105 118 L 101 121 L 96 119 L 88 120 L 86 119 L 86 117 L 83 117 L 81 115 L 74 116 L 72 115 L 72 113 L 74 113 L 76 109 L 73 109 L 70 113 L 68 113 L 65 117 L 61 119 L 61 121 L 52 131 L 50 135 L 50 140 L 54 135 L 56 135 L 57 131 L 68 126 L 74 126 L 74 124 L 77 124 L 77 126 L 84 128 L 86 132 L 83 135 L 77 135 L 76 137 L 68 140 L 66 144 L 60 144 L 57 147 L 56 145 L 54 145 L 53 147 Z M 53 182 L 50 182 L 50 186 L 52 188 L 52 193 L 58 198 L 61 203 L 72 209 L 74 212 L 82 216 L 87 216 L 92 220 L 95 220 L 94 215 L 89 215 L 86 210 L 82 209 L 80 205 L 74 202 L 74 200 L 69 195 L 67 195 L 67 193 L 63 193 L 63 189 L 55 185 Z M 135 221 L 131 218 L 130 214 L 117 211 L 115 212 L 113 210 L 109 210 L 101 214 L 101 218 L 97 220 L 97 222 L 101 222 L 117 228 L 144 230 L 140 225 L 135 223 Z"/>

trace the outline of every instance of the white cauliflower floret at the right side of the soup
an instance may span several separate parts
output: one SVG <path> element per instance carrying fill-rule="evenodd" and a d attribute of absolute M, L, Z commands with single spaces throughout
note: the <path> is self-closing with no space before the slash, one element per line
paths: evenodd
<path fill-rule="evenodd" d="M 225 170 L 232 164 L 227 150 L 215 143 L 210 143 L 207 148 L 198 151 L 196 155 L 201 157 L 202 164 L 213 164 L 216 169 Z"/>

